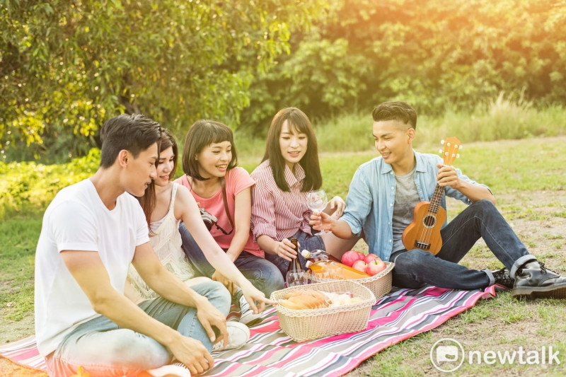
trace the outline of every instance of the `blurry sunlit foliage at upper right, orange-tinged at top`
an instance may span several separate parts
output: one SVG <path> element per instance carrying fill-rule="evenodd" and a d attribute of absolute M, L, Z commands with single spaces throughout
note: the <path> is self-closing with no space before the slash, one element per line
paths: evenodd
<path fill-rule="evenodd" d="M 311 118 L 405 100 L 420 113 L 472 111 L 499 93 L 565 103 L 563 0 L 335 0 L 252 86 L 243 119 L 265 132 L 279 108 Z"/>

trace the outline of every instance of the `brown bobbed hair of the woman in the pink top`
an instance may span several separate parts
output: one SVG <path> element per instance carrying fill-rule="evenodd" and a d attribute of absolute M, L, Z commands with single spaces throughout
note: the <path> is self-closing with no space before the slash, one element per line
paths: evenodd
<path fill-rule="evenodd" d="M 202 149 L 210 144 L 230 141 L 232 159 L 228 163 L 226 170 L 231 170 L 238 166 L 238 154 L 234 145 L 234 136 L 230 127 L 214 120 L 197 120 L 193 123 L 185 137 L 183 146 L 183 173 L 195 180 L 207 180 L 199 173 L 199 162 L 197 156 Z"/>

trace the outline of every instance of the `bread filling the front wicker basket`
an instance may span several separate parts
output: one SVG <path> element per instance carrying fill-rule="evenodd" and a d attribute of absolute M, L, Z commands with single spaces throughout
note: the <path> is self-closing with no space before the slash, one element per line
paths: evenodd
<path fill-rule="evenodd" d="M 357 303 L 362 298 L 353 296 L 350 292 L 338 294 L 335 292 L 318 291 L 316 289 L 304 289 L 292 291 L 285 295 L 285 299 L 279 303 L 289 309 L 319 309 L 330 306 L 340 306 L 347 303 Z"/>

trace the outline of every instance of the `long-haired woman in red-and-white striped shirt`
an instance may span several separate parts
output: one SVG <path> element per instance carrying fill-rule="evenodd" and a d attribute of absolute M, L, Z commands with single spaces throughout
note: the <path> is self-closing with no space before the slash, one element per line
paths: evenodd
<path fill-rule="evenodd" d="M 301 110 L 284 108 L 277 112 L 267 134 L 263 161 L 251 177 L 255 180 L 253 236 L 265 251 L 265 258 L 283 275 L 297 255 L 305 264 L 289 238 L 296 237 L 301 249 L 327 250 L 333 255 L 341 255 L 355 244 L 355 240 L 342 240 L 332 233 L 313 234 L 308 224 L 312 211 L 306 204 L 306 193 L 320 189 L 322 176 L 313 127 Z M 333 197 L 323 211 L 338 218 L 345 207 L 342 198 Z"/>

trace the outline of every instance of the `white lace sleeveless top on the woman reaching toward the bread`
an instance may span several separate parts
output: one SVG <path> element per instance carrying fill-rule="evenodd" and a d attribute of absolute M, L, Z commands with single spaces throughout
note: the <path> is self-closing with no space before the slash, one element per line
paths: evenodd
<path fill-rule="evenodd" d="M 181 248 L 183 242 L 178 229 L 179 223 L 177 219 L 175 219 L 175 212 L 173 211 L 177 187 L 178 184 L 173 182 L 169 211 L 163 219 L 151 223 L 151 228 L 156 235 L 150 237 L 149 240 L 159 260 L 163 263 L 163 266 L 182 282 L 185 282 L 195 277 L 195 270 L 192 269 L 187 255 L 185 255 L 183 248 Z M 155 229 L 154 224 L 158 222 L 161 222 L 161 224 Z M 144 280 L 141 279 L 133 265 L 129 265 L 127 282 L 131 284 L 144 299 L 158 297 L 158 294 L 156 294 L 153 289 L 149 288 Z"/>

